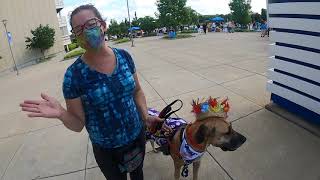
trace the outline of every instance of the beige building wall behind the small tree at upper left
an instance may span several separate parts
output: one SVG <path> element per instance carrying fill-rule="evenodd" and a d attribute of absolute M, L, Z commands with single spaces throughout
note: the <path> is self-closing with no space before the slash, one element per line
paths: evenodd
<path fill-rule="evenodd" d="M 13 37 L 12 50 L 19 66 L 34 62 L 41 57 L 40 52 L 26 49 L 25 37 L 30 37 L 30 30 L 40 24 L 49 24 L 55 29 L 55 44 L 46 55 L 62 52 L 61 30 L 58 25 L 55 0 L 1 0 L 0 21 L 7 19 L 7 29 Z M 7 43 L 5 29 L 0 24 L 0 72 L 11 69 L 13 62 Z"/>

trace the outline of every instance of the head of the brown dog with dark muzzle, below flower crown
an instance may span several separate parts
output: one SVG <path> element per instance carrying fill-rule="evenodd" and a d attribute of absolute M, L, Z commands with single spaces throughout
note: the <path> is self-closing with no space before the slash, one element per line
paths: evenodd
<path fill-rule="evenodd" d="M 220 147 L 223 151 L 234 151 L 246 141 L 246 137 L 233 130 L 225 118 L 210 117 L 196 123 L 199 124 L 195 139 L 199 144 L 206 143 Z"/>

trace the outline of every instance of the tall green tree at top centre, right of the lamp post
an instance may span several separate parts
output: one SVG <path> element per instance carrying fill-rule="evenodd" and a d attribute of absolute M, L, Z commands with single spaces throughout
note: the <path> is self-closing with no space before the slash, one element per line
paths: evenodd
<path fill-rule="evenodd" d="M 183 23 L 187 0 L 157 0 L 157 14 L 161 26 L 176 29 Z"/>

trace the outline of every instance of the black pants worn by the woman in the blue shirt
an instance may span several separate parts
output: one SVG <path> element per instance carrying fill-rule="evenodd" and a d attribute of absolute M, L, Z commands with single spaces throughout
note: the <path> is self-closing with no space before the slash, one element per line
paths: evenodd
<path fill-rule="evenodd" d="M 142 131 L 138 138 L 132 142 L 131 144 L 115 148 L 115 149 L 104 149 L 100 146 L 94 145 L 93 146 L 93 153 L 96 159 L 96 162 L 102 171 L 103 175 L 106 177 L 107 180 L 126 180 L 127 173 L 122 173 L 118 167 L 118 157 L 123 156 L 122 151 L 124 149 L 131 149 L 135 147 L 140 147 L 143 150 L 143 158 L 145 155 L 145 132 Z M 143 160 L 142 163 L 137 167 L 134 171 L 130 173 L 131 180 L 143 180 Z"/>

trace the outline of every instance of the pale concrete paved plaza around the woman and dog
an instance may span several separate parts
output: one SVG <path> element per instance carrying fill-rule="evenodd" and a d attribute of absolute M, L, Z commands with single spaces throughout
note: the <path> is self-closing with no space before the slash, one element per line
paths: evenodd
<path fill-rule="evenodd" d="M 268 40 L 256 33 L 209 33 L 190 39 L 143 38 L 118 47 L 134 56 L 148 106 L 185 103 L 178 115 L 193 121 L 193 98 L 228 96 L 229 121 L 247 137 L 235 152 L 210 147 L 199 179 L 320 180 L 320 139 L 267 111 Z M 55 59 L 0 77 L 0 179 L 102 180 L 88 135 L 73 133 L 59 121 L 28 119 L 18 107 L 41 92 L 63 103 L 61 83 L 73 62 Z M 173 179 L 170 157 L 151 152 L 145 179 Z M 189 170 L 192 168 L 190 167 Z M 192 171 L 191 171 L 192 172 Z M 192 173 L 187 179 L 192 178 Z"/>

